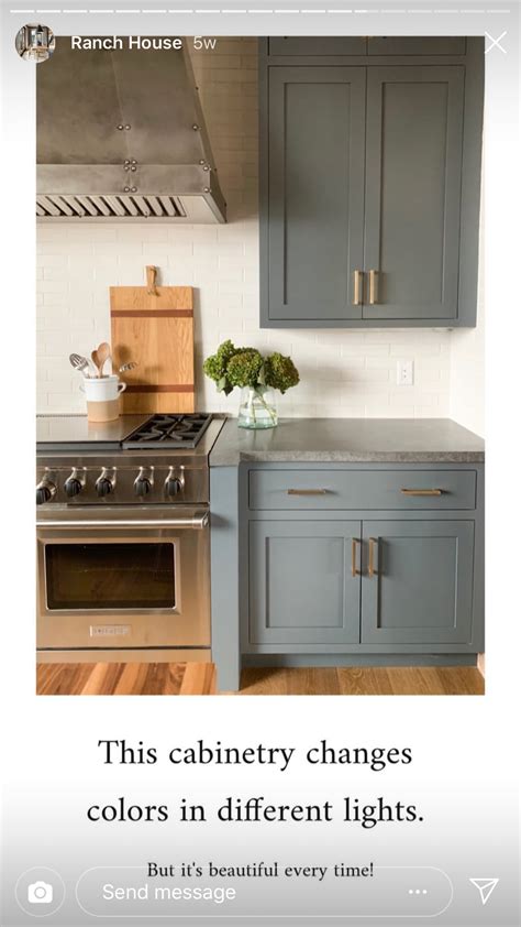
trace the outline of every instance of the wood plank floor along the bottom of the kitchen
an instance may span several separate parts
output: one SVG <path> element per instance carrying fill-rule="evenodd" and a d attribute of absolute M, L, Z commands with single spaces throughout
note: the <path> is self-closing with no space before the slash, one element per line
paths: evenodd
<path fill-rule="evenodd" d="M 53 663 L 36 667 L 37 695 L 218 695 L 211 663 Z M 473 666 L 243 669 L 223 695 L 484 695 Z"/>

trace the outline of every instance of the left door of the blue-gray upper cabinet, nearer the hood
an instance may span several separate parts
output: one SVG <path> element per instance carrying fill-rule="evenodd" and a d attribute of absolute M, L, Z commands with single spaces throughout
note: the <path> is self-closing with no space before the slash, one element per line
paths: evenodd
<path fill-rule="evenodd" d="M 362 317 L 365 87 L 365 67 L 269 68 L 267 315 L 288 327 Z"/>

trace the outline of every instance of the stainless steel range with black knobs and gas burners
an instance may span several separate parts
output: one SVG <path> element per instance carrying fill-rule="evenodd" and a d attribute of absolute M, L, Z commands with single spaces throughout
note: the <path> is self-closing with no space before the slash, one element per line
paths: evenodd
<path fill-rule="evenodd" d="M 37 418 L 40 662 L 210 658 L 211 415 Z"/>

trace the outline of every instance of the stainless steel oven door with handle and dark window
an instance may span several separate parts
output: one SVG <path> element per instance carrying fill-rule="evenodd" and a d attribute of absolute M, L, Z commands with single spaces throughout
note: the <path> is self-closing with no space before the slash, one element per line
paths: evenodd
<path fill-rule="evenodd" d="M 209 647 L 208 520 L 192 508 L 44 512 L 37 648 Z"/>

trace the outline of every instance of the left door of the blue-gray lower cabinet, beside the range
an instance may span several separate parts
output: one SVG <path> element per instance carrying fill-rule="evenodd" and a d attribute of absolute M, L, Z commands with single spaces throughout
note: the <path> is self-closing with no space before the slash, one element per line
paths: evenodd
<path fill-rule="evenodd" d="M 250 642 L 358 643 L 359 537 L 356 521 L 251 522 Z"/>

